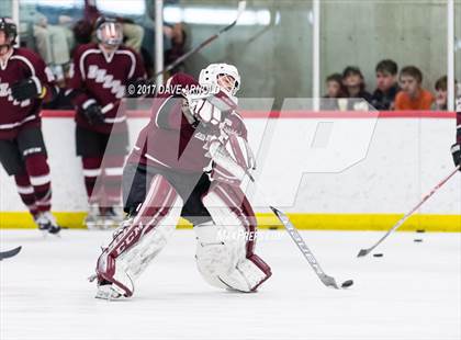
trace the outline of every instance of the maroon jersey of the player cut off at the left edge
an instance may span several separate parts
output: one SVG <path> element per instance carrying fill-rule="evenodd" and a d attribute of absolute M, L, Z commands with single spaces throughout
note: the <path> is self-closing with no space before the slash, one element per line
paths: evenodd
<path fill-rule="evenodd" d="M 19 128 L 41 124 L 42 101 L 47 95 L 24 101 L 16 101 L 11 95 L 11 86 L 30 77 L 38 78 L 46 93 L 55 91 L 53 72 L 43 59 L 30 49 L 13 48 L 4 65 L 0 65 L 0 139 L 14 138 Z"/>

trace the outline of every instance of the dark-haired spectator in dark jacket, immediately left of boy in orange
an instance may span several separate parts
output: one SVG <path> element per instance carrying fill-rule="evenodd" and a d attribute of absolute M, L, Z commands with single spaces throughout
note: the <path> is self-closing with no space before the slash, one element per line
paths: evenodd
<path fill-rule="evenodd" d="M 384 59 L 378 63 L 375 72 L 376 90 L 371 104 L 376 110 L 394 110 L 395 95 L 401 90 L 397 82 L 398 66 L 394 60 Z"/>

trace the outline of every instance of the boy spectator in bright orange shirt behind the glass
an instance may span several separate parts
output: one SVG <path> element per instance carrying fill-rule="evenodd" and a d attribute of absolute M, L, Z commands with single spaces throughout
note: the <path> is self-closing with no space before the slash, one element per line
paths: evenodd
<path fill-rule="evenodd" d="M 421 88 L 423 73 L 417 67 L 404 67 L 398 80 L 402 91 L 395 97 L 395 110 L 430 110 L 434 95 Z"/>

